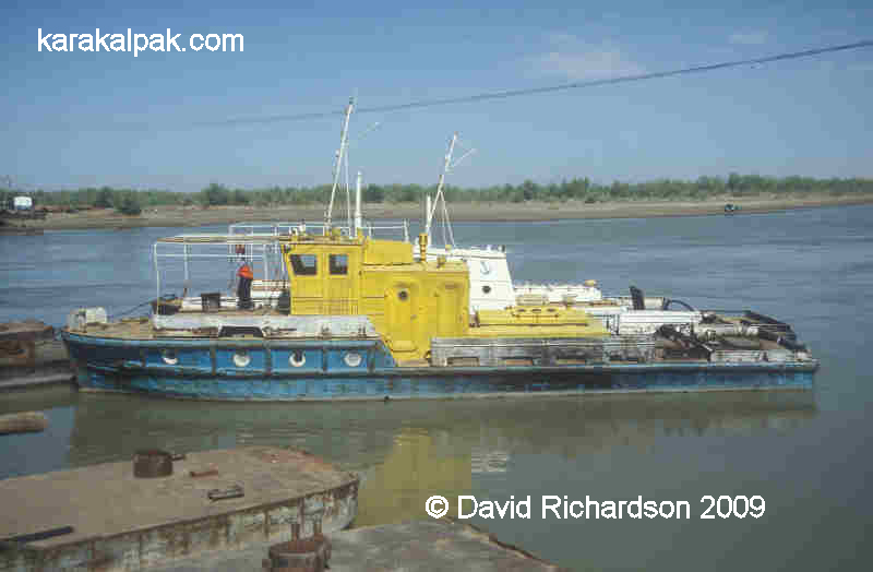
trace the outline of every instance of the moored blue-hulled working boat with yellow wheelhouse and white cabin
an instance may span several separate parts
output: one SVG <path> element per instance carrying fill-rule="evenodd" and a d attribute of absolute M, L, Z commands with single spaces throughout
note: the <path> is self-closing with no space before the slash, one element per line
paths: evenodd
<path fill-rule="evenodd" d="M 590 283 L 582 300 L 519 294 L 500 249 L 433 249 L 428 231 L 415 246 L 375 238 L 359 200 L 355 224 L 334 227 L 350 114 L 323 225 L 160 239 L 150 318 L 70 315 L 61 336 L 82 390 L 298 401 L 812 388 L 817 360 L 773 318 L 670 310 L 666 298 L 650 310 L 636 288 L 625 300 Z M 239 266 L 236 297 L 186 297 L 200 250 Z M 182 260 L 181 298 L 162 296 L 162 257 Z"/>

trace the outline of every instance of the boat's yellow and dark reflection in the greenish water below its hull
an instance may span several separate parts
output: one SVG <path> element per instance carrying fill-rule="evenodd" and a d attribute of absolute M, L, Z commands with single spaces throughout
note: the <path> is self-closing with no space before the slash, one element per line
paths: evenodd
<path fill-rule="evenodd" d="M 68 464 L 125 460 L 155 446 L 302 448 L 361 473 L 356 523 L 364 525 L 421 519 L 431 494 L 469 494 L 477 479 L 511 474 L 519 455 L 573 458 L 615 446 L 644 452 L 665 439 L 779 434 L 816 414 L 806 392 L 331 404 L 80 394 Z"/>

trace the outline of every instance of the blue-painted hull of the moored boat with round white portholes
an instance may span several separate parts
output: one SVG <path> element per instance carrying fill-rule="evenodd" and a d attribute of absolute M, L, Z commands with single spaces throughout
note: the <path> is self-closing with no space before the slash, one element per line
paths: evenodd
<path fill-rule="evenodd" d="M 62 333 L 80 388 L 230 401 L 810 390 L 815 362 L 398 368 L 381 341 L 119 339 Z"/>

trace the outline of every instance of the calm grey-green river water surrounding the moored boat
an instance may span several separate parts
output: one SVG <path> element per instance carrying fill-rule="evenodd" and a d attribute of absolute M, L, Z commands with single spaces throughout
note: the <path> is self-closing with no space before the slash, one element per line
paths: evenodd
<path fill-rule="evenodd" d="M 0 437 L 0 477 L 129 460 L 145 446 L 294 445 L 361 473 L 356 525 L 428 519 L 432 494 L 449 498 L 452 514 L 459 494 L 529 496 L 529 520 L 495 512 L 470 522 L 576 570 L 868 569 L 871 221 L 873 206 L 455 225 L 458 243 L 505 245 L 516 282 L 595 278 L 608 293 L 634 284 L 786 320 L 822 360 L 812 392 L 222 404 L 56 388 L 0 394 L 0 413 L 44 409 L 50 419 L 44 433 Z M 153 241 L 192 231 L 0 237 L 0 322 L 61 325 L 77 307 L 128 310 L 155 295 Z M 222 264 L 211 269 L 214 289 L 232 272 Z M 703 520 L 707 494 L 760 496 L 765 511 L 722 519 L 713 509 Z M 543 496 L 686 501 L 691 519 L 631 519 L 626 508 L 623 519 L 543 519 Z"/>

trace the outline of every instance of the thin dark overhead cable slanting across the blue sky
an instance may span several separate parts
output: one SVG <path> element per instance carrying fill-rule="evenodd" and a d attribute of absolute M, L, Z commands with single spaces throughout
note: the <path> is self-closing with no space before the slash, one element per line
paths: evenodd
<path fill-rule="evenodd" d="M 585 87 L 597 87 L 600 85 L 612 85 L 617 83 L 641 82 L 645 80 L 657 80 L 659 78 L 671 78 L 673 75 L 684 75 L 689 73 L 702 73 L 716 70 L 723 70 L 727 68 L 739 68 L 742 65 L 754 65 L 760 63 L 769 63 L 774 61 L 796 60 L 800 58 L 811 58 L 821 56 L 823 53 L 832 53 L 836 51 L 846 51 L 851 49 L 868 48 L 873 46 L 873 40 L 856 41 L 853 44 L 844 44 L 840 46 L 827 46 L 824 48 L 808 49 L 803 51 L 791 51 L 787 53 L 778 53 L 776 56 L 767 56 L 764 58 L 751 58 L 743 60 L 726 61 L 721 63 L 710 63 L 707 65 L 695 65 L 693 68 L 680 68 L 677 70 L 638 73 L 633 75 L 620 75 L 617 78 L 608 78 L 605 80 L 589 80 L 584 82 L 573 82 L 560 85 L 549 85 L 545 87 L 528 87 L 524 90 L 506 90 L 502 92 L 490 92 L 478 95 L 467 95 L 461 97 L 447 97 L 443 99 L 422 99 L 419 102 L 410 102 L 406 104 L 383 105 L 372 107 L 359 107 L 356 112 L 358 114 L 384 114 L 388 111 L 403 111 L 407 109 L 421 109 L 424 107 L 435 107 L 441 105 L 454 104 L 468 104 L 486 102 L 489 99 L 505 99 L 509 97 L 519 97 L 524 95 L 537 95 L 554 92 L 563 92 L 569 90 L 582 90 Z M 322 111 L 311 114 L 296 114 L 296 115 L 275 115 L 264 117 L 241 117 L 231 118 L 220 121 L 206 121 L 196 123 L 201 127 L 217 127 L 217 126 L 237 126 L 237 124 L 255 124 L 255 123 L 274 123 L 282 121 L 303 121 L 308 119 L 322 119 L 325 117 L 342 116 L 345 111 Z"/>

